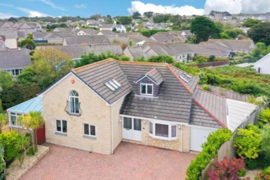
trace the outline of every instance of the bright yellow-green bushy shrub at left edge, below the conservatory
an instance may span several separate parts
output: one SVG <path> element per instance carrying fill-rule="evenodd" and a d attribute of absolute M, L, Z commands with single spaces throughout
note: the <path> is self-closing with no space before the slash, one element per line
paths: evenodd
<path fill-rule="evenodd" d="M 0 142 L 4 146 L 5 161 L 11 161 L 18 156 L 18 151 L 15 148 L 15 144 L 18 141 L 20 135 L 15 131 L 0 134 Z"/>

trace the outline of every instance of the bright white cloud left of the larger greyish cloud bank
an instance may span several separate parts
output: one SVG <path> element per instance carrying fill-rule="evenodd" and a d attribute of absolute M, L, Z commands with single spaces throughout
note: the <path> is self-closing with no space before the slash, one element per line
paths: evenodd
<path fill-rule="evenodd" d="M 144 4 L 140 1 L 132 1 L 131 8 L 128 8 L 127 11 L 132 14 L 133 12 L 139 11 L 139 13 L 143 14 L 147 11 L 153 11 L 154 13 L 171 13 L 171 14 L 179 14 L 179 15 L 203 15 L 203 9 L 196 9 L 193 6 L 181 6 L 181 7 L 174 7 L 174 6 L 162 6 L 162 5 L 155 5 L 151 3 Z"/>

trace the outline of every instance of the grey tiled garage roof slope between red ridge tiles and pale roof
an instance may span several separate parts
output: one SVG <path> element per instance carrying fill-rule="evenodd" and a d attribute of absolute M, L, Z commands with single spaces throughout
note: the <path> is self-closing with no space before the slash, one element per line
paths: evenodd
<path fill-rule="evenodd" d="M 226 98 L 205 90 L 195 89 L 194 102 L 223 127 L 227 126 Z"/>

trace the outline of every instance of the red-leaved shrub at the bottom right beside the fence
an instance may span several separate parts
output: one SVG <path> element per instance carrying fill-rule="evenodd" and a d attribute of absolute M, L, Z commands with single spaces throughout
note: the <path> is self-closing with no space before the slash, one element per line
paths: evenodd
<path fill-rule="evenodd" d="M 208 171 L 208 176 L 210 180 L 240 180 L 237 172 L 242 168 L 245 168 L 244 157 L 239 159 L 234 157 L 232 161 L 224 157 L 221 162 L 215 161 L 213 169 Z"/>

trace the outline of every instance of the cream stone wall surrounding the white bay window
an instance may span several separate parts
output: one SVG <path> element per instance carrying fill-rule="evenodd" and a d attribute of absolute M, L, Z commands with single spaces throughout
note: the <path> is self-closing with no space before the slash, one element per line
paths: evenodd
<path fill-rule="evenodd" d="M 177 125 L 177 140 L 167 141 L 152 138 L 148 135 L 148 120 L 141 123 L 142 144 L 181 151 L 181 129 Z M 189 152 L 190 149 L 190 127 L 182 125 L 183 128 L 183 152 Z"/>

